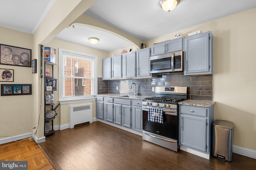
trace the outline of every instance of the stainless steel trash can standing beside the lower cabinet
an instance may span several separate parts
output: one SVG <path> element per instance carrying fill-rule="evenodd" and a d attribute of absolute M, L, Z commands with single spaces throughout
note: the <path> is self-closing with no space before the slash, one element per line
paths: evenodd
<path fill-rule="evenodd" d="M 215 120 L 213 123 L 212 155 L 217 159 L 232 162 L 234 123 Z"/>

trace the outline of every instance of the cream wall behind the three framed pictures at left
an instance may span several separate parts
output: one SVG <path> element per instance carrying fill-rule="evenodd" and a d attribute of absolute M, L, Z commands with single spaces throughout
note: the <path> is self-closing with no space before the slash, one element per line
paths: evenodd
<path fill-rule="evenodd" d="M 5 27 L 0 27 L 0 33 L 0 44 L 26 49 L 32 49 L 33 47 L 31 34 Z M 31 67 L 0 64 L 0 68 L 14 70 L 14 82 L 0 82 L 0 84 L 32 84 L 32 90 L 33 88 L 36 89 L 32 83 Z M 33 90 L 32 95 L 0 96 L 0 135 L 15 136 L 32 132 L 33 113 L 31 105 L 34 95 Z M 0 136 L 0 138 L 6 138 L 6 136 Z"/>

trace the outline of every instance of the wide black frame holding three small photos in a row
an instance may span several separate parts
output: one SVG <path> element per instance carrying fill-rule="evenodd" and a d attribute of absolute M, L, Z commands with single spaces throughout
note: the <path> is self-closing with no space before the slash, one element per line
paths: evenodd
<path fill-rule="evenodd" d="M 32 84 L 1 84 L 1 96 L 31 95 Z"/>

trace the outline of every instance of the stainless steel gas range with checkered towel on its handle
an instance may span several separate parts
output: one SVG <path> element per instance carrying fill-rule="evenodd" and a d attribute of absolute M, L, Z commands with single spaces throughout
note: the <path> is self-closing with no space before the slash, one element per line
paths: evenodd
<path fill-rule="evenodd" d="M 178 151 L 178 102 L 187 99 L 187 87 L 155 88 L 155 97 L 142 100 L 142 139 Z"/>

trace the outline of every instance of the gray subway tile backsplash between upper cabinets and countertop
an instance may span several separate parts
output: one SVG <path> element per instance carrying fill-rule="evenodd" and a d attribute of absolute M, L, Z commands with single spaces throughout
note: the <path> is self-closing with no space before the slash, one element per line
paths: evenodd
<path fill-rule="evenodd" d="M 152 87 L 155 86 L 186 86 L 188 87 L 188 99 L 212 100 L 212 75 L 206 76 L 184 76 L 180 74 L 165 74 L 158 78 L 124 79 L 124 80 L 102 80 L 98 78 L 98 94 L 125 94 L 139 96 L 155 96 Z M 118 87 L 118 90 L 116 90 Z"/>

